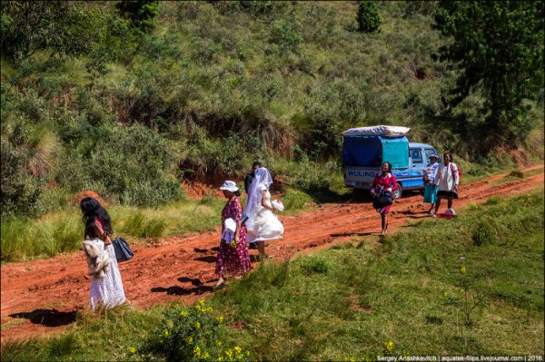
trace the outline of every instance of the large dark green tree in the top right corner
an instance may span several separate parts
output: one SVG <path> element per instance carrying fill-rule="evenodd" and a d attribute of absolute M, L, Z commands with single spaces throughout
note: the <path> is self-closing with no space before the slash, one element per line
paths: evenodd
<path fill-rule="evenodd" d="M 445 100 L 452 110 L 471 94 L 484 97 L 484 121 L 476 134 L 488 134 L 485 148 L 523 141 L 532 128 L 524 117 L 528 101 L 543 89 L 543 2 L 444 1 L 433 27 L 451 38 L 439 59 L 460 71 Z M 434 56 L 436 58 L 436 56 Z"/>

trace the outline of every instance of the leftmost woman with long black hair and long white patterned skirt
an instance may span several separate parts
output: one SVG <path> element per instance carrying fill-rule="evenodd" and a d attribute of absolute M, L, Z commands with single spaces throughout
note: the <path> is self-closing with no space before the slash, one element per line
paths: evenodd
<path fill-rule="evenodd" d="M 99 306 L 114 308 L 123 304 L 126 299 L 123 280 L 115 259 L 114 245 L 112 245 L 110 239 L 110 234 L 114 233 L 110 215 L 98 201 L 91 197 L 80 201 L 80 208 L 84 214 L 84 238 L 103 240 L 104 252 L 107 252 L 110 256 L 110 269 L 105 273 L 104 278 L 98 278 L 95 275 L 91 277 L 89 305 L 93 310 Z"/>

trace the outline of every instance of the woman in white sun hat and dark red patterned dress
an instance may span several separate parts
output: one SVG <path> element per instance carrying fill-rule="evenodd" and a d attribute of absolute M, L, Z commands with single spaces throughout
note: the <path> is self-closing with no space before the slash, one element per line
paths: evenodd
<path fill-rule="evenodd" d="M 225 284 L 223 277 L 226 273 L 239 276 L 252 269 L 246 245 L 246 227 L 242 225 L 243 205 L 238 198 L 241 193 L 234 181 L 224 181 L 220 190 L 229 201 L 222 210 L 222 242 L 215 269 L 220 278 L 214 288 Z"/>

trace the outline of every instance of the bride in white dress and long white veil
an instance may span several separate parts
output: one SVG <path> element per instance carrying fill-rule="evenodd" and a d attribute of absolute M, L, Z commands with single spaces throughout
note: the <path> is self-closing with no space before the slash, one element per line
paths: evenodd
<path fill-rule="evenodd" d="M 248 200 L 244 213 L 248 217 L 246 221 L 246 242 L 257 242 L 259 255 L 262 259 L 265 255 L 265 240 L 282 238 L 282 222 L 274 215 L 271 204 L 272 184 L 271 173 L 264 167 L 255 170 L 255 178 L 248 190 Z"/>

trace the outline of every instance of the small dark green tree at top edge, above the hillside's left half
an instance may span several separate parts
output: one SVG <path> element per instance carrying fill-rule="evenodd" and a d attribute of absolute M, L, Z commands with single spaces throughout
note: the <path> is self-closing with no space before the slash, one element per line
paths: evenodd
<path fill-rule="evenodd" d="M 159 15 L 157 0 L 124 0 L 117 2 L 115 7 L 135 28 L 144 33 L 154 28 L 155 18 Z"/>

